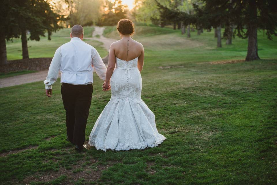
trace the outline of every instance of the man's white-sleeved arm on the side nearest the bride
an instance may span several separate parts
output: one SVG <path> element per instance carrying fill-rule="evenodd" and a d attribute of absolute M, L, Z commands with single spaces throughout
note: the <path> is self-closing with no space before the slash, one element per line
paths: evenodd
<path fill-rule="evenodd" d="M 91 51 L 92 65 L 100 79 L 106 79 L 107 68 L 96 49 Z"/>

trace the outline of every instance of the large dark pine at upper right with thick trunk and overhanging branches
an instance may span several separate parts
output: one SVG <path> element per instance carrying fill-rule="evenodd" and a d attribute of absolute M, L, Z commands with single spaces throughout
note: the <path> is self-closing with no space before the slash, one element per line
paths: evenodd
<path fill-rule="evenodd" d="M 195 8 L 203 24 L 209 26 L 237 25 L 233 36 L 248 38 L 246 61 L 257 60 L 258 56 L 258 29 L 265 30 L 267 38 L 272 40 L 272 35 L 277 36 L 277 1 L 276 0 L 203 0 L 204 8 Z M 232 24 L 231 24 L 232 25 Z M 247 31 L 245 32 L 244 29 Z M 224 35 L 227 35 L 225 29 Z"/>

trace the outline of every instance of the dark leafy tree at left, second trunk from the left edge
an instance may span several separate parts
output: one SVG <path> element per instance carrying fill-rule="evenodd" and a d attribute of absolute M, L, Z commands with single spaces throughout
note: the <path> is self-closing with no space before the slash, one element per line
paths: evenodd
<path fill-rule="evenodd" d="M 15 7 L 21 31 L 22 56 L 25 59 L 29 58 L 27 40 L 39 41 L 46 31 L 48 40 L 51 40 L 52 32 L 62 28 L 59 21 L 64 20 L 64 16 L 55 13 L 53 6 L 43 0 L 17 0 Z M 29 38 L 27 31 L 30 33 Z"/>

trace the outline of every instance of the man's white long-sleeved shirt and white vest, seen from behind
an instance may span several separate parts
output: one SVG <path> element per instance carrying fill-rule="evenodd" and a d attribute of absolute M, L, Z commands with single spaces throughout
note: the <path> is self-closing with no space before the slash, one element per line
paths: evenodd
<path fill-rule="evenodd" d="M 107 68 L 97 50 L 83 42 L 81 38 L 73 37 L 70 42 L 56 50 L 44 80 L 45 88 L 51 89 L 52 84 L 57 81 L 59 71 L 61 71 L 61 83 L 91 84 L 93 68 L 100 79 L 106 79 Z"/>

